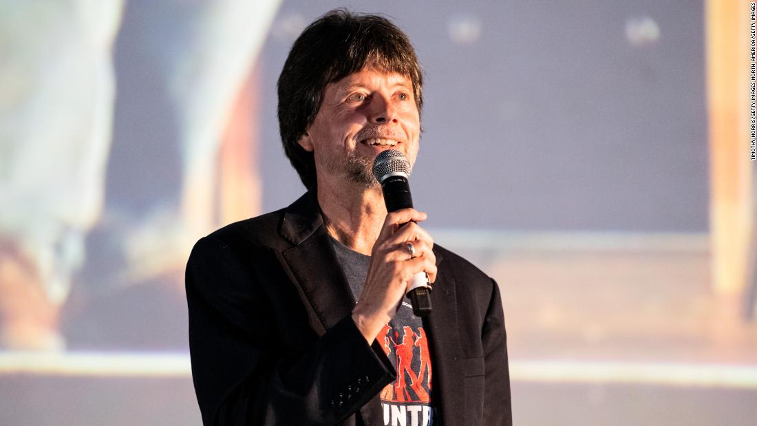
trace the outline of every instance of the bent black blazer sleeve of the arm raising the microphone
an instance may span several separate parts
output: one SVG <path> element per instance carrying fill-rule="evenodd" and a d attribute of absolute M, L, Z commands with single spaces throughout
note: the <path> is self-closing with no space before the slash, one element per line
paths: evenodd
<path fill-rule="evenodd" d="M 278 322 L 288 318 L 266 303 L 255 261 L 242 262 L 209 236 L 187 263 L 189 351 L 203 423 L 344 421 L 394 379 L 394 368 L 350 316 L 304 350 L 283 349 Z"/>

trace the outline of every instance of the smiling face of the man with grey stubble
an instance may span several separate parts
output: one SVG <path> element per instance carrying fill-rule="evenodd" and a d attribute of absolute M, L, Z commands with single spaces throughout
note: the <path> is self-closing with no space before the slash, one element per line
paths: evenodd
<path fill-rule="evenodd" d="M 375 156 L 395 149 L 412 166 L 419 135 L 410 78 L 363 68 L 326 86 L 316 119 L 298 142 L 313 151 L 319 183 L 346 180 L 370 188 L 378 185 L 371 173 Z"/>

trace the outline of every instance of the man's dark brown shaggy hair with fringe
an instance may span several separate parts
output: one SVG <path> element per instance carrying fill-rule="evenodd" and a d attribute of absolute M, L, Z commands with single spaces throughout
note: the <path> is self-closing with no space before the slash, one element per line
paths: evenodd
<path fill-rule="evenodd" d="M 416 51 L 385 17 L 329 11 L 307 26 L 289 51 L 279 75 L 279 132 L 306 188 L 316 185 L 316 164 L 298 139 L 315 120 L 326 86 L 366 66 L 410 78 L 420 112 L 423 82 Z"/>

